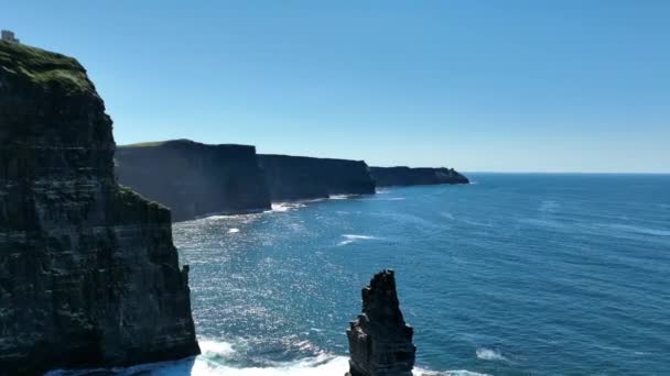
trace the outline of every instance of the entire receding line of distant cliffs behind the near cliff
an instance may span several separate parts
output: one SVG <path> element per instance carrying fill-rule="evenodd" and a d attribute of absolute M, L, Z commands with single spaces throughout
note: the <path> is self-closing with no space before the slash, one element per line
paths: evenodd
<path fill-rule="evenodd" d="M 369 167 L 365 161 L 257 154 L 191 140 L 117 147 L 119 183 L 172 210 L 174 221 L 270 209 L 271 202 L 374 195 L 376 187 L 467 184 L 449 168 Z"/>

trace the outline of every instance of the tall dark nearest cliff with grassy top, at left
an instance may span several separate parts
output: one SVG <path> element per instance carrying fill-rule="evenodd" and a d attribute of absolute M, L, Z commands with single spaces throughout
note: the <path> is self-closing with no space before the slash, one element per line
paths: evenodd
<path fill-rule="evenodd" d="M 199 352 L 170 212 L 119 188 L 74 59 L 0 42 L 0 374 Z"/>

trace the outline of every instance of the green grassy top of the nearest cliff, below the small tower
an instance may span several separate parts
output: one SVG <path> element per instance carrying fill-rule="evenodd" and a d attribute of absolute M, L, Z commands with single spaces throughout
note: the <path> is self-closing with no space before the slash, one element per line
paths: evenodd
<path fill-rule="evenodd" d="M 95 93 L 86 69 L 76 59 L 24 44 L 0 41 L 0 70 L 17 74 L 45 88 Z"/>

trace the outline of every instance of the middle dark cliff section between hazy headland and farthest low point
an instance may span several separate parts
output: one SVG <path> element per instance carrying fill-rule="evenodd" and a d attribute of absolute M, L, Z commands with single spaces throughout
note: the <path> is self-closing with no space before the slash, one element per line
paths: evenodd
<path fill-rule="evenodd" d="M 259 155 L 273 201 L 375 193 L 363 161 Z"/>

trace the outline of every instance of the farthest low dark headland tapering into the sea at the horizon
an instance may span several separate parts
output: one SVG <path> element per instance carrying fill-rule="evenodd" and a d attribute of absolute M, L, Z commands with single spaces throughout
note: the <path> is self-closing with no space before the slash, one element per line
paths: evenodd
<path fill-rule="evenodd" d="M 445 167 L 370 167 L 370 174 L 377 187 L 469 183 L 461 173 Z"/>

